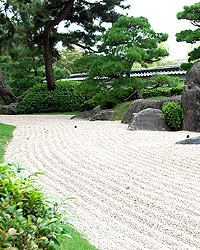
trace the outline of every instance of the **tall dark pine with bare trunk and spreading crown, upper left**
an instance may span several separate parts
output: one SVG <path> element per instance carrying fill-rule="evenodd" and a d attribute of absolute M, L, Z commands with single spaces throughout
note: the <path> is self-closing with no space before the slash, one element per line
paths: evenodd
<path fill-rule="evenodd" d="M 1 13 L 12 13 L 21 40 L 29 48 L 38 48 L 44 56 L 46 79 L 49 90 L 55 89 L 52 53 L 56 44 L 63 41 L 65 46 L 77 45 L 91 50 L 95 44 L 96 32 L 105 30 L 104 22 L 115 22 L 119 13 L 115 7 L 125 9 L 125 0 L 1 0 Z M 67 34 L 59 33 L 57 26 L 65 21 Z M 79 28 L 70 31 L 75 23 Z M 15 29 L 16 30 L 16 29 Z"/>

